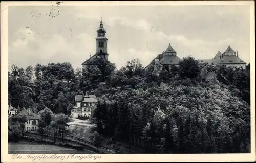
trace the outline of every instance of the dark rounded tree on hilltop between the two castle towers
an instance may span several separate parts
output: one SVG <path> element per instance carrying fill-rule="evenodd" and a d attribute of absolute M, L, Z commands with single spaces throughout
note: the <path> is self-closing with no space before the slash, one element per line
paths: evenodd
<path fill-rule="evenodd" d="M 179 63 L 179 75 L 181 78 L 194 78 L 196 79 L 200 73 L 200 68 L 198 66 L 198 61 L 193 57 L 184 57 Z"/>

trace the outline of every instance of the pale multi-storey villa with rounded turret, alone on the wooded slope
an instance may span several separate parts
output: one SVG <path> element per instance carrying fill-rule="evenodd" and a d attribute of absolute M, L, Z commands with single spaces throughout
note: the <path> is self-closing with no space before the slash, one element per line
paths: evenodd
<path fill-rule="evenodd" d="M 87 116 L 90 117 L 93 109 L 96 106 L 97 97 L 95 95 L 86 95 L 83 94 L 75 96 L 76 106 L 71 109 L 71 117 L 77 118 L 78 116 Z"/>

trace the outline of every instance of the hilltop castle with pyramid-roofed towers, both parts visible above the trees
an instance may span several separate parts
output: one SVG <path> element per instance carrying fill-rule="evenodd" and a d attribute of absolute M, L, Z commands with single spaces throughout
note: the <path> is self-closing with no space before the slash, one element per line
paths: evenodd
<path fill-rule="evenodd" d="M 154 69 L 156 69 L 160 66 L 161 69 L 164 70 L 167 68 L 172 68 L 172 66 L 178 67 L 180 61 L 181 59 L 177 56 L 177 52 L 169 44 L 166 51 L 158 54 L 157 57 L 146 66 L 146 68 L 153 67 Z M 228 46 L 228 48 L 223 53 L 219 51 L 214 58 L 201 59 L 198 60 L 198 62 L 199 64 L 208 63 L 212 65 L 225 65 L 234 69 L 245 69 L 246 67 L 246 63 L 238 57 L 238 52 L 234 51 L 230 46 Z"/>

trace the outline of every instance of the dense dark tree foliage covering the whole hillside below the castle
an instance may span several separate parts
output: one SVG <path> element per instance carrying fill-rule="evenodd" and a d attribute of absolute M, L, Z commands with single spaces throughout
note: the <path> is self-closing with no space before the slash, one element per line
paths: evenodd
<path fill-rule="evenodd" d="M 149 153 L 250 152 L 250 65 L 234 70 L 187 57 L 179 67 L 153 71 L 138 59 L 119 70 L 100 58 L 92 62 L 75 71 L 69 63 L 13 65 L 9 102 L 47 113 L 39 125 L 56 129 L 67 122 L 75 94 L 90 91 L 98 97 L 98 133 L 113 140 Z M 206 80 L 208 72 L 217 79 Z M 49 123 L 46 107 L 58 114 Z"/>

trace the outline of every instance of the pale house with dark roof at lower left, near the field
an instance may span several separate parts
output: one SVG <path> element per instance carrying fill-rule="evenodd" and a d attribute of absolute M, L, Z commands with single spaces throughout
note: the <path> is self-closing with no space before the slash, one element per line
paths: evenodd
<path fill-rule="evenodd" d="M 28 118 L 27 122 L 25 123 L 25 131 L 38 129 L 38 120 L 40 119 L 40 116 L 33 113 L 30 109 L 25 108 L 11 117 L 11 122 L 10 124 L 8 124 L 10 129 L 21 129 L 20 123 L 17 121 L 17 118 L 19 117 L 19 115 L 22 114 L 26 115 Z"/>

